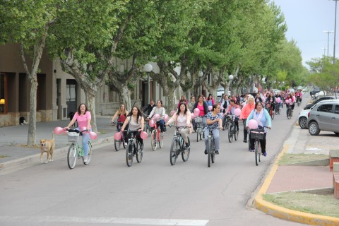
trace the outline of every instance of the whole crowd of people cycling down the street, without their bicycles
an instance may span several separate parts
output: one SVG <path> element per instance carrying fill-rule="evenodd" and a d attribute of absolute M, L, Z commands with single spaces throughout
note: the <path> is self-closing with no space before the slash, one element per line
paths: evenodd
<path fill-rule="evenodd" d="M 153 100 L 150 104 L 141 111 L 140 108 L 133 106 L 131 112 L 126 110 L 124 104 L 121 104 L 117 112 L 112 117 L 111 122 L 117 120 L 117 131 L 123 131 L 125 136 L 125 142 L 128 142 L 127 131 L 133 131 L 136 139 L 140 142 L 140 151 L 143 151 L 143 138 L 141 138 L 141 132 L 144 131 L 146 121 L 149 121 L 153 116 L 157 116 L 155 119 L 157 126 L 160 126 L 160 136 L 164 136 L 165 127 L 169 124 L 175 124 L 175 126 L 182 127 L 179 129 L 179 133 L 185 142 L 185 147 L 190 148 L 188 136 L 196 128 L 194 117 L 200 117 L 201 123 L 203 124 L 204 138 L 205 138 L 205 150 L 207 154 L 208 149 L 208 133 L 213 133 L 215 141 L 215 154 L 219 154 L 220 150 L 220 133 L 223 129 L 223 119 L 227 114 L 234 115 L 234 125 L 239 131 L 239 120 L 242 120 L 244 126 L 244 143 L 249 142 L 249 151 L 254 151 L 254 139 L 248 136 L 249 121 L 251 119 L 256 120 L 258 129 L 263 129 L 265 134 L 261 143 L 261 153 L 266 156 L 266 133 L 267 130 L 272 127 L 272 121 L 267 107 L 272 107 L 273 112 L 276 107 L 282 108 L 284 103 L 288 103 L 292 109 L 294 108 L 295 102 L 302 101 L 301 90 L 296 93 L 288 90 L 273 93 L 273 91 L 264 91 L 263 93 L 246 93 L 242 95 L 222 95 L 220 100 L 217 102 L 214 100 L 213 95 L 208 95 L 207 99 L 203 95 L 196 97 L 191 96 L 190 100 L 186 100 L 182 96 L 178 102 L 177 109 L 173 112 L 172 117 L 165 121 L 165 108 L 162 107 L 162 100 L 157 100 L 156 104 Z M 236 109 L 241 109 L 241 112 Z M 235 111 L 240 114 L 235 114 Z M 147 113 L 147 114 L 146 114 Z M 70 121 L 69 125 L 64 129 L 69 129 L 76 121 L 78 121 L 78 128 L 80 131 L 81 126 L 86 126 L 90 131 L 90 112 L 85 104 L 81 104 L 78 107 L 78 111 Z M 90 137 L 83 136 L 83 147 L 84 147 L 84 161 L 87 160 L 88 156 L 88 141 Z M 249 139 L 249 141 L 248 141 Z"/>

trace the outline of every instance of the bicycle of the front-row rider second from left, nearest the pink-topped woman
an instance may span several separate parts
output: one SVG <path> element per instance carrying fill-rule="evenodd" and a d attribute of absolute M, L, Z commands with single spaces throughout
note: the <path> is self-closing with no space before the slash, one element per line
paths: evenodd
<path fill-rule="evenodd" d="M 136 155 L 136 161 L 138 163 L 143 160 L 143 150 L 141 150 L 141 143 L 136 139 L 136 133 L 138 131 L 128 130 L 129 142 L 127 143 L 126 148 L 126 164 L 130 167 L 133 164 L 133 157 Z"/>

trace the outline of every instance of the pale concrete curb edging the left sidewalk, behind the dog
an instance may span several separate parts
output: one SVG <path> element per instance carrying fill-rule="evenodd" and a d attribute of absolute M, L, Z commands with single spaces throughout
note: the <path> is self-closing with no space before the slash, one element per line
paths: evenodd
<path fill-rule="evenodd" d="M 93 141 L 93 149 L 101 148 L 102 144 L 109 145 L 111 142 L 114 142 L 114 136 L 109 136 L 107 138 L 100 138 L 97 141 Z M 66 157 L 69 147 L 57 148 L 54 150 L 54 160 L 59 160 L 63 157 Z M 17 160 L 11 160 L 0 164 L 0 176 L 4 174 L 9 174 L 11 172 L 16 172 L 20 169 L 25 169 L 32 167 L 34 165 L 40 165 L 40 154 L 30 155 L 27 157 L 21 157 Z"/>

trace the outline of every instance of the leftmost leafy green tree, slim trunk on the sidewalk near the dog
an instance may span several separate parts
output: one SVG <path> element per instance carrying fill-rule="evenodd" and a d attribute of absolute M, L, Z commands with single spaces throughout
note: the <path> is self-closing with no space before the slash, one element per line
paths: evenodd
<path fill-rule="evenodd" d="M 1 44 L 20 44 L 20 56 L 30 81 L 30 117 L 27 145 L 36 143 L 37 72 L 49 28 L 57 15 L 57 0 L 1 1 Z M 28 58 L 32 65 L 28 65 Z"/>

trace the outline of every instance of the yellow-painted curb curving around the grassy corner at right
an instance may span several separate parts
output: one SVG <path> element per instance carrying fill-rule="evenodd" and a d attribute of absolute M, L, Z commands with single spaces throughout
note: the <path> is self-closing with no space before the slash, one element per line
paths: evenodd
<path fill-rule="evenodd" d="M 290 145 L 285 145 L 282 152 L 276 158 L 274 165 L 270 170 L 270 173 L 266 177 L 263 185 L 261 186 L 261 189 L 258 191 L 258 194 L 256 194 L 256 197 L 254 198 L 254 207 L 258 210 L 263 211 L 264 213 L 273 215 L 274 217 L 283 220 L 300 222 L 307 225 L 339 225 L 339 218 L 304 213 L 297 210 L 290 210 L 287 208 L 276 206 L 273 203 L 269 203 L 268 201 L 263 200 L 262 195 L 266 194 L 266 191 L 270 186 L 270 182 L 272 181 L 275 172 L 277 172 L 278 162 L 289 148 Z"/>

